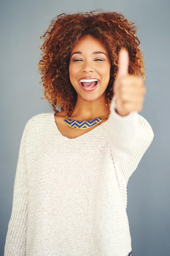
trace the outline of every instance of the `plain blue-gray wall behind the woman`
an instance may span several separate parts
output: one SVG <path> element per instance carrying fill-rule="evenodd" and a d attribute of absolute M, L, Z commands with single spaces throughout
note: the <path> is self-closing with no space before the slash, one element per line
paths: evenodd
<path fill-rule="evenodd" d="M 134 256 L 170 255 L 170 1 L 0 1 L 0 256 L 11 215 L 20 139 L 28 119 L 51 112 L 42 100 L 39 36 L 62 12 L 117 11 L 139 27 L 147 95 L 142 115 L 155 138 L 128 184 Z"/>

